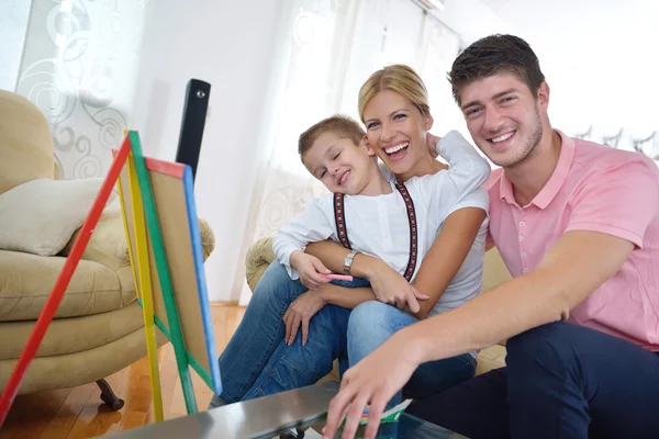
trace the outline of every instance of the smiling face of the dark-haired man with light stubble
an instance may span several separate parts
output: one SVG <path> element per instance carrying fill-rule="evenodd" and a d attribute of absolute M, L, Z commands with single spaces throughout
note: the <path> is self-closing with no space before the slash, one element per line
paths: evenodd
<path fill-rule="evenodd" d="M 536 99 L 515 75 L 498 74 L 463 87 L 460 101 L 473 142 L 495 165 L 510 168 L 533 157 L 549 101 L 545 82 Z"/>

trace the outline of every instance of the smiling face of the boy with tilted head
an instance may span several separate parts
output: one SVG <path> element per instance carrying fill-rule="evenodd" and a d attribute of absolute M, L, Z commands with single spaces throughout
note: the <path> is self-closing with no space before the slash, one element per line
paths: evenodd
<path fill-rule="evenodd" d="M 302 164 L 331 192 L 355 195 L 369 183 L 370 167 L 377 168 L 364 142 L 355 145 L 349 137 L 325 132 L 302 156 Z"/>

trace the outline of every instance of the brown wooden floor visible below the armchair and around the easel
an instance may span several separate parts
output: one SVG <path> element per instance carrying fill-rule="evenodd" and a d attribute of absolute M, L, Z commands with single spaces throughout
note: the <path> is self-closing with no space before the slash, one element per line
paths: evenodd
<path fill-rule="evenodd" d="M 221 352 L 236 330 L 244 307 L 212 305 L 215 342 Z M 158 351 L 160 384 L 165 419 L 186 415 L 186 403 L 178 378 L 176 359 L 171 344 Z M 212 392 L 201 379 L 192 373 L 197 405 L 205 409 Z M 150 397 L 150 382 L 146 357 L 136 363 L 108 376 L 108 382 L 125 405 L 121 410 L 111 412 L 99 398 L 96 383 L 78 387 L 16 396 L 0 430 L 0 439 L 5 438 L 90 438 L 111 435 L 154 421 Z"/>

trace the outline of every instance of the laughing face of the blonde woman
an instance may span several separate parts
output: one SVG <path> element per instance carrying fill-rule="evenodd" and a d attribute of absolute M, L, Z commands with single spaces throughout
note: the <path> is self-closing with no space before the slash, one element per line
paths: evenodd
<path fill-rule="evenodd" d="M 429 157 L 426 131 L 433 119 L 407 98 L 391 90 L 378 92 L 364 109 L 364 121 L 369 146 L 394 175 L 411 172 Z"/>

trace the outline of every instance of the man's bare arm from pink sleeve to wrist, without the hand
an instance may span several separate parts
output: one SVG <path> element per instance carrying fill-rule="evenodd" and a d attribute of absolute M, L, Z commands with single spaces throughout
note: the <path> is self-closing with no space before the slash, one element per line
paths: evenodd
<path fill-rule="evenodd" d="M 422 324 L 410 327 L 410 336 L 423 352 L 421 361 L 482 349 L 530 328 L 567 319 L 570 309 L 615 274 L 633 250 L 628 240 L 603 233 L 567 232 L 535 271 L 424 322 L 428 328 Z M 431 333 L 426 333 L 431 325 Z"/>

